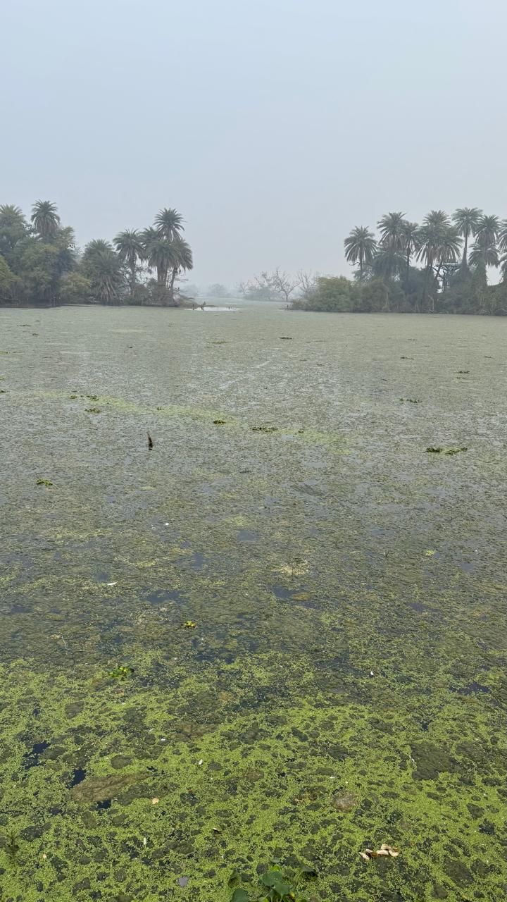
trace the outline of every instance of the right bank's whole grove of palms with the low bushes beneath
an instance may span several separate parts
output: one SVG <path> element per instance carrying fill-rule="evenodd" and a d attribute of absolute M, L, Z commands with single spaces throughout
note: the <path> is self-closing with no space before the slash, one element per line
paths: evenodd
<path fill-rule="evenodd" d="M 432 210 L 421 225 L 388 213 L 377 225 L 377 236 L 356 226 L 345 239 L 354 281 L 318 277 L 292 306 L 507 315 L 507 220 L 461 207 L 452 217 Z M 498 285 L 488 284 L 491 268 L 500 268 Z"/>

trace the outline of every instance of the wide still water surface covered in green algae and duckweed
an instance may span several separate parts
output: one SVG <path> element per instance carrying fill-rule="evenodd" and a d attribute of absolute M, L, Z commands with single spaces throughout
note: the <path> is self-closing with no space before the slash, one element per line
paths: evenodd
<path fill-rule="evenodd" d="M 506 338 L 0 310 L 2 902 L 505 897 Z"/>

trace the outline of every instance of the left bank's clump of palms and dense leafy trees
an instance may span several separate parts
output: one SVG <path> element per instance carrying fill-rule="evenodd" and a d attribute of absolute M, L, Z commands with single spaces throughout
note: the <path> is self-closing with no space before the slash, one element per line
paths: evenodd
<path fill-rule="evenodd" d="M 152 226 L 97 238 L 81 253 L 55 204 L 38 200 L 30 221 L 0 206 L 0 303 L 160 304 L 177 306 L 177 281 L 192 269 L 183 218 L 161 209 Z M 154 278 L 153 278 L 154 276 Z"/>

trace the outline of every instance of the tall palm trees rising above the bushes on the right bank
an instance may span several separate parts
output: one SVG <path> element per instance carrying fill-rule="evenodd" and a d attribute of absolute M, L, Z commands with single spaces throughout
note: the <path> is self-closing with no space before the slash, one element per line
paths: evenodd
<path fill-rule="evenodd" d="M 452 217 L 431 210 L 422 225 L 403 213 L 388 213 L 378 222 L 379 238 L 357 226 L 345 239 L 346 259 L 357 264 L 357 277 L 408 281 L 412 261 L 422 262 L 427 276 L 446 287 L 446 274 L 468 267 L 502 266 L 507 278 L 507 220 L 485 216 L 478 207 L 460 207 Z M 469 252 L 470 239 L 474 244 Z"/>

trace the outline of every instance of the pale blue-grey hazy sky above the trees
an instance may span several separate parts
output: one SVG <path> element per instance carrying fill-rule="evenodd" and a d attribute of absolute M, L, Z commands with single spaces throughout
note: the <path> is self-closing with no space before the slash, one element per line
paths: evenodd
<path fill-rule="evenodd" d="M 177 207 L 192 281 L 348 272 L 388 210 L 507 216 L 504 0 L 3 0 L 0 202 Z"/>

